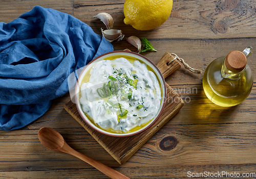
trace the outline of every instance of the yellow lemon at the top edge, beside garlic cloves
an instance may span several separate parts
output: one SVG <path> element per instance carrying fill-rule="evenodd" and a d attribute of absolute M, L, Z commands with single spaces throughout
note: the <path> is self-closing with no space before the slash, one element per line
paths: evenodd
<path fill-rule="evenodd" d="M 125 0 L 123 22 L 141 31 L 155 29 L 167 20 L 172 8 L 173 0 Z"/>

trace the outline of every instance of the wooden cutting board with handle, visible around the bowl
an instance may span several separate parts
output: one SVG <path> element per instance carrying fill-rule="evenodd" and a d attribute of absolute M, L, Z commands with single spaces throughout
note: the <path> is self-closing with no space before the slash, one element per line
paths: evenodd
<path fill-rule="evenodd" d="M 172 61 L 169 65 L 168 62 Z M 181 67 L 180 63 L 174 59 L 174 56 L 165 53 L 157 64 L 157 67 L 166 78 Z M 64 108 L 65 110 L 81 125 L 94 139 L 119 163 L 124 164 L 129 160 L 135 152 L 150 139 L 170 118 L 172 118 L 184 105 L 181 97 L 166 83 L 167 99 L 165 108 L 160 118 L 146 131 L 131 137 L 115 138 L 106 136 L 93 130 L 80 117 L 76 104 L 71 99 L 68 100 Z"/>

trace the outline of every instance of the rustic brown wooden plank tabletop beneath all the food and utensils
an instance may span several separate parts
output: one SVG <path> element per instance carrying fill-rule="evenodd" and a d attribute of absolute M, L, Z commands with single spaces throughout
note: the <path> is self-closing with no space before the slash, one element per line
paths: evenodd
<path fill-rule="evenodd" d="M 121 29 L 125 37 L 135 35 L 152 42 L 158 52 L 142 55 L 154 63 L 169 52 L 201 70 L 232 50 L 243 50 L 249 45 L 256 49 L 255 1 L 174 1 L 167 21 L 145 32 L 123 23 L 123 3 L 124 0 L 2 0 L 0 21 L 10 22 L 39 5 L 71 14 L 101 35 L 104 24 L 92 17 L 108 12 L 114 18 L 114 27 Z M 129 48 L 136 52 L 125 39 L 112 44 L 114 50 Z M 254 79 L 255 59 L 256 53 L 248 59 Z M 199 173 L 220 177 L 218 172 L 223 176 L 251 173 L 251 177 L 242 178 L 255 178 L 252 176 L 256 173 L 255 80 L 251 94 L 242 104 L 222 108 L 205 96 L 202 76 L 182 67 L 166 79 L 185 105 L 123 165 L 63 109 L 69 94 L 53 100 L 49 111 L 30 125 L 11 132 L 0 131 L 0 178 L 107 178 L 73 156 L 42 146 L 37 132 L 44 126 L 56 129 L 82 154 L 130 178 L 188 178 Z"/>

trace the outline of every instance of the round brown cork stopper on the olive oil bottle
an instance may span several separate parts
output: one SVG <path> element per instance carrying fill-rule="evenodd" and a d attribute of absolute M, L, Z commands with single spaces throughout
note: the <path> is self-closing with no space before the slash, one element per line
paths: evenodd
<path fill-rule="evenodd" d="M 240 51 L 232 51 L 230 52 L 225 60 L 225 65 L 228 70 L 232 72 L 240 72 L 242 71 L 247 63 L 246 56 Z"/>

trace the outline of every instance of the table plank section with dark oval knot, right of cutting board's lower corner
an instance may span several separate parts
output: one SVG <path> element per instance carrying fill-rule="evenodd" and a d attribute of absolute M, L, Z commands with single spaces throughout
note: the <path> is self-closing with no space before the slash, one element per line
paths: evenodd
<path fill-rule="evenodd" d="M 151 165 L 161 160 L 161 165 L 169 166 L 255 163 L 256 151 L 252 149 L 256 145 L 255 126 L 255 123 L 165 125 L 135 154 L 141 157 L 136 162 L 143 164 L 147 158 Z M 166 141 L 166 147 L 161 147 Z"/>

